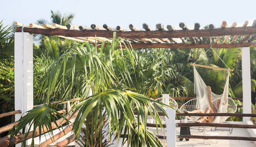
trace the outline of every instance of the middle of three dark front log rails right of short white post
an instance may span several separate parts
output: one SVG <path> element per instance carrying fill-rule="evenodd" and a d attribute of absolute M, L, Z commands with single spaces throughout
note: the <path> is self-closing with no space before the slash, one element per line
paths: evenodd
<path fill-rule="evenodd" d="M 209 122 L 185 122 L 177 123 L 177 127 L 223 127 L 223 128 L 246 128 L 246 129 L 256 129 L 256 125 L 237 125 L 237 124 L 220 124 L 220 123 L 209 123 Z"/>

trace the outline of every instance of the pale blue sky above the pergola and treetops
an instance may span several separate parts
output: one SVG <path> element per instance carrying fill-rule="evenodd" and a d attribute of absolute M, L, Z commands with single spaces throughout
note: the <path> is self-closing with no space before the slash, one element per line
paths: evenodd
<path fill-rule="evenodd" d="M 142 23 L 147 23 L 154 30 L 157 23 L 164 24 L 164 27 L 170 24 L 180 30 L 180 22 L 187 24 L 189 29 L 194 28 L 195 22 L 199 22 L 201 27 L 212 23 L 218 28 L 223 20 L 228 26 L 237 22 L 237 27 L 241 27 L 245 20 L 251 26 L 256 19 L 255 0 L 0 0 L 0 5 L 0 21 L 4 20 L 4 25 L 11 25 L 14 21 L 29 25 L 42 18 L 51 21 L 50 10 L 73 13 L 72 24 L 78 26 L 90 27 L 93 23 L 102 26 L 106 23 L 111 28 L 121 26 L 126 30 L 129 30 L 129 24 L 142 29 Z"/>

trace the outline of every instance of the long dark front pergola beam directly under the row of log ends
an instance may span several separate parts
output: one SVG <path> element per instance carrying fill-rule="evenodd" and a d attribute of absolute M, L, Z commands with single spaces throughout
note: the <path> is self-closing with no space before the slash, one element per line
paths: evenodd
<path fill-rule="evenodd" d="M 22 32 L 22 27 L 17 27 L 16 32 Z M 30 34 L 42 34 L 46 36 L 66 36 L 66 37 L 113 37 L 114 31 L 106 30 L 65 30 L 65 29 L 39 29 L 24 28 L 24 32 Z M 220 28 L 207 30 L 174 30 L 174 31 L 120 31 L 116 32 L 117 37 L 125 38 L 181 38 L 181 37 L 212 37 L 225 35 L 248 35 L 256 34 L 256 27 L 237 27 L 237 28 Z"/>

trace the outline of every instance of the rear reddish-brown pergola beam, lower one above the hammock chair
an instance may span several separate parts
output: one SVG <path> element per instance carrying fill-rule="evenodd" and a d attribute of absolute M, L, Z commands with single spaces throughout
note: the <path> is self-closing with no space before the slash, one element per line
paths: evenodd
<path fill-rule="evenodd" d="M 212 48 L 238 48 L 254 46 L 255 42 L 245 43 L 218 43 L 212 44 Z M 133 48 L 209 48 L 208 43 L 132 43 Z"/>

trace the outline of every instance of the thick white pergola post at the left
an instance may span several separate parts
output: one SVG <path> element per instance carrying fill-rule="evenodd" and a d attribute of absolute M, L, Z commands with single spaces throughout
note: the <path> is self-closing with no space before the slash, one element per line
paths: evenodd
<path fill-rule="evenodd" d="M 15 121 L 33 109 L 33 35 L 14 34 Z M 18 144 L 16 146 L 19 146 Z"/>

